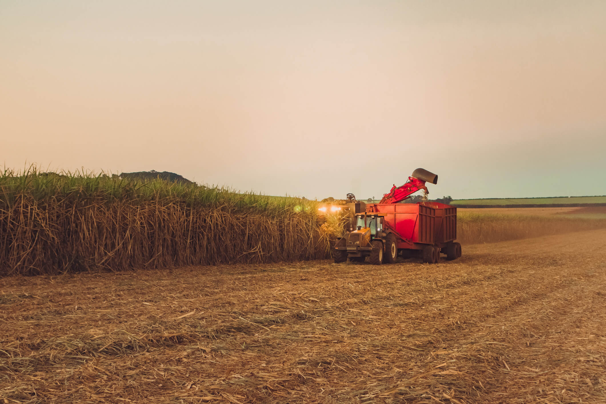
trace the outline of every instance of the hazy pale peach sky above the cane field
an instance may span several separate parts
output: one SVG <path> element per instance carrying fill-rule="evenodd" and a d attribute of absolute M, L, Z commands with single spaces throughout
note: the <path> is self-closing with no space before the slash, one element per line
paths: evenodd
<path fill-rule="evenodd" d="M 0 2 L 0 166 L 606 194 L 606 1 Z"/>

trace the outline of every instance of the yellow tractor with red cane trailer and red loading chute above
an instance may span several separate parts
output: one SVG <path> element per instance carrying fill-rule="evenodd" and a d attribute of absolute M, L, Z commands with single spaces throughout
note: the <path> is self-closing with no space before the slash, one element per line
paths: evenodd
<path fill-rule="evenodd" d="M 355 230 L 337 239 L 333 248 L 335 262 L 395 262 L 402 257 L 421 256 L 423 262 L 438 263 L 440 253 L 446 259 L 461 257 L 456 239 L 456 207 L 438 202 L 399 204 L 416 191 L 428 194 L 425 184 L 438 184 L 438 176 L 417 168 L 401 187 L 396 185 L 378 204 L 366 204 L 355 214 Z"/>

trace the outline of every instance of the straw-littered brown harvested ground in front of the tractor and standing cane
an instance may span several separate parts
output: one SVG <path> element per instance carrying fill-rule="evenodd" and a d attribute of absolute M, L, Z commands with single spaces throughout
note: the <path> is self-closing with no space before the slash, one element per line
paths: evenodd
<path fill-rule="evenodd" d="M 453 262 L 0 279 L 29 403 L 606 403 L 606 230 Z"/>

